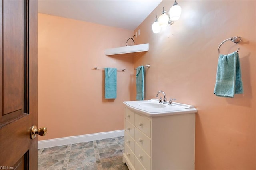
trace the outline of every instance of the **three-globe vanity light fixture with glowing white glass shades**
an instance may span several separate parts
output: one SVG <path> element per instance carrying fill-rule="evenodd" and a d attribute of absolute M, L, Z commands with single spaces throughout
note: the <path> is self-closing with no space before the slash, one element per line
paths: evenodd
<path fill-rule="evenodd" d="M 159 33 L 161 31 L 161 28 L 164 28 L 168 26 L 168 24 L 172 25 L 174 21 L 178 20 L 180 18 L 181 14 L 181 7 L 178 5 L 176 0 L 174 1 L 173 6 L 170 8 L 169 12 L 164 10 L 163 7 L 163 12 L 157 18 L 155 22 L 152 24 L 152 30 L 154 33 Z"/>

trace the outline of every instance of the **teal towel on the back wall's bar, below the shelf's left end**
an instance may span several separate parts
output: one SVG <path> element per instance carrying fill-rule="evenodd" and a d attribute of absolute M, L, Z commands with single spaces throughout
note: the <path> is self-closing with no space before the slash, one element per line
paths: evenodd
<path fill-rule="evenodd" d="M 105 68 L 105 98 L 116 98 L 116 68 Z"/>

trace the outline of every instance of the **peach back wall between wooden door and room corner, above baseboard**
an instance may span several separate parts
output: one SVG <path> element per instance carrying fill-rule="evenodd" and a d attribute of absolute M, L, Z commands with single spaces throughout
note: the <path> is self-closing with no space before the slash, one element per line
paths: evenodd
<path fill-rule="evenodd" d="M 133 57 L 109 57 L 106 48 L 125 46 L 133 30 L 38 14 L 39 140 L 124 129 L 123 101 L 132 98 Z M 117 98 L 104 98 L 104 70 L 117 72 Z"/>

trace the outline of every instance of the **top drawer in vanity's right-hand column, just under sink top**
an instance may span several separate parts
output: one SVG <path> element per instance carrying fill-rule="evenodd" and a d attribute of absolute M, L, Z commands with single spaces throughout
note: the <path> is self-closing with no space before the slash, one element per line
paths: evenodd
<path fill-rule="evenodd" d="M 151 137 L 151 120 L 135 114 L 135 126 L 148 137 Z"/>

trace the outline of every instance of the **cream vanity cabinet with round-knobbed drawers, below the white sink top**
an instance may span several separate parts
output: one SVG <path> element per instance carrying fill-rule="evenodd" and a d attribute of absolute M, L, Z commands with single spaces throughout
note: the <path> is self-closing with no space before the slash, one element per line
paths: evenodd
<path fill-rule="evenodd" d="M 125 107 L 129 170 L 194 170 L 195 113 L 146 116 Z"/>

